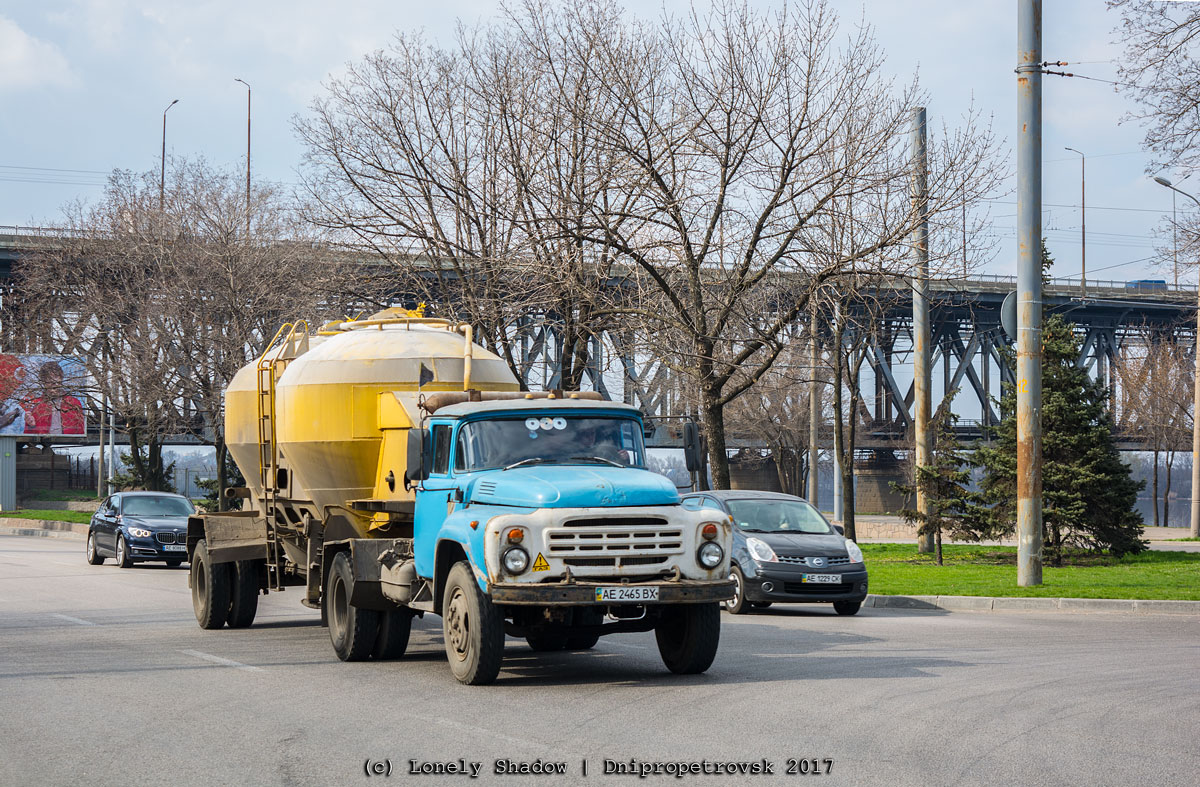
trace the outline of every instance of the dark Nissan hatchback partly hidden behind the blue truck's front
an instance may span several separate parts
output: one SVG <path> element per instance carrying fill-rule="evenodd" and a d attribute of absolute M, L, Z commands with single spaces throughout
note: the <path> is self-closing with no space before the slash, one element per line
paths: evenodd
<path fill-rule="evenodd" d="M 833 602 L 845 615 L 863 606 L 863 551 L 804 498 L 726 489 L 684 495 L 683 505 L 718 509 L 733 519 L 730 578 L 737 588 L 726 603 L 733 614 L 776 601 Z"/>

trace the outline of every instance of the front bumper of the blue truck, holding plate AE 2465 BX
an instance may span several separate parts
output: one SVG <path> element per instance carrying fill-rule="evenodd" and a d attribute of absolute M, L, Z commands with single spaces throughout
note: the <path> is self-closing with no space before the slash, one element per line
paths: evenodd
<path fill-rule="evenodd" d="M 655 601 L 613 602 L 598 601 L 596 590 L 599 588 L 658 588 L 659 597 Z M 529 605 L 539 607 L 577 607 L 595 606 L 607 607 L 620 603 L 620 606 L 661 606 L 667 603 L 708 603 L 713 601 L 726 601 L 733 597 L 734 583 L 732 579 L 678 579 L 661 582 L 631 582 L 620 584 L 619 582 L 542 582 L 533 583 L 497 583 L 488 585 L 488 595 L 493 603 Z"/>

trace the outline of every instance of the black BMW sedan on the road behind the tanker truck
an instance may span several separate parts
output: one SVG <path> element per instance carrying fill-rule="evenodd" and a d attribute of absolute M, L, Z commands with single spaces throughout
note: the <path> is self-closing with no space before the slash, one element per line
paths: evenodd
<path fill-rule="evenodd" d="M 115 558 L 127 569 L 162 560 L 178 566 L 187 559 L 187 517 L 192 501 L 167 492 L 118 492 L 104 500 L 88 527 L 88 563 Z"/>

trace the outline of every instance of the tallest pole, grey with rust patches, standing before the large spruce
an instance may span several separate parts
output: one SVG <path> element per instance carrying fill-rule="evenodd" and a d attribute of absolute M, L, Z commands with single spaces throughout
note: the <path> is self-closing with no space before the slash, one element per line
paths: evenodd
<path fill-rule="evenodd" d="M 1042 0 L 1016 12 L 1016 584 L 1042 584 Z"/>

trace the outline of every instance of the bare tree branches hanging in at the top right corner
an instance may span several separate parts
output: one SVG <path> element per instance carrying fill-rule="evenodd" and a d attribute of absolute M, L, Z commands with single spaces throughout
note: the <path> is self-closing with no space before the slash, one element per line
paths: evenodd
<path fill-rule="evenodd" d="M 1114 31 L 1124 44 L 1117 73 L 1122 92 L 1141 108 L 1129 118 L 1146 126 L 1154 170 L 1200 167 L 1200 7 L 1194 2 L 1109 0 L 1121 14 Z"/>

